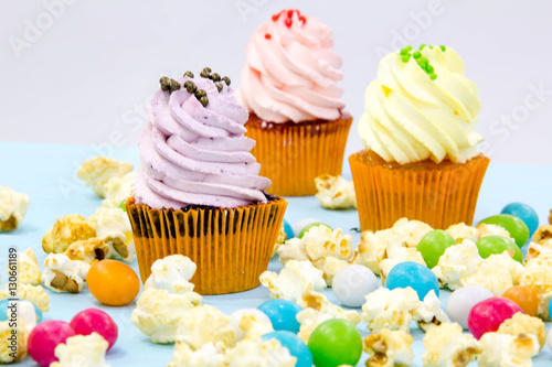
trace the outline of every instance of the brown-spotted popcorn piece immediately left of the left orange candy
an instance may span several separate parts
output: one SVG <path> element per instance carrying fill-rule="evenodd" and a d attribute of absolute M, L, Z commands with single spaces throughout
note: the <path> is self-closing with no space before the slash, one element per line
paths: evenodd
<path fill-rule="evenodd" d="M 50 253 L 44 260 L 42 283 L 54 292 L 78 293 L 91 266 L 84 261 L 71 260 L 63 253 Z"/>

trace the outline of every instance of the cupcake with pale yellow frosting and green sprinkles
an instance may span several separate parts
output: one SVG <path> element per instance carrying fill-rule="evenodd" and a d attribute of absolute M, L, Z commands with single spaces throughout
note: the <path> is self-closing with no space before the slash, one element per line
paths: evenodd
<path fill-rule="evenodd" d="M 476 148 L 477 95 L 450 47 L 407 46 L 380 62 L 359 121 L 365 150 L 349 158 L 362 230 L 401 217 L 471 224 L 489 164 Z"/>

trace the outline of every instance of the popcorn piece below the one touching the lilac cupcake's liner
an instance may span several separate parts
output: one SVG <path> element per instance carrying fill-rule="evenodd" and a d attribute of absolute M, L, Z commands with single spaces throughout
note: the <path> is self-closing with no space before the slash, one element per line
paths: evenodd
<path fill-rule="evenodd" d="M 144 289 L 137 307 L 130 316 L 131 323 L 151 342 L 164 344 L 176 341 L 177 327 L 187 312 L 201 304 L 195 292 L 169 293 L 164 289 Z"/>

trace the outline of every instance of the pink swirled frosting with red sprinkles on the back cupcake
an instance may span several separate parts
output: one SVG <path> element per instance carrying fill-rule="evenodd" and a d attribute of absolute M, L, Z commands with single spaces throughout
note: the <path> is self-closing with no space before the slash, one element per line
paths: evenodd
<path fill-rule="evenodd" d="M 332 46 L 331 30 L 317 18 L 273 15 L 250 40 L 237 100 L 269 122 L 338 119 L 343 75 Z"/>

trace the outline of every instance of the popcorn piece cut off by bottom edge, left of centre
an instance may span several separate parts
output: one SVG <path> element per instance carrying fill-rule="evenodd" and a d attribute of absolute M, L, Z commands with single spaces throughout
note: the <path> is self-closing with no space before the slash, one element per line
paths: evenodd
<path fill-rule="evenodd" d="M 213 343 L 193 350 L 185 343 L 177 343 L 168 367 L 226 367 L 224 354 Z"/>

